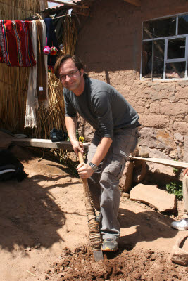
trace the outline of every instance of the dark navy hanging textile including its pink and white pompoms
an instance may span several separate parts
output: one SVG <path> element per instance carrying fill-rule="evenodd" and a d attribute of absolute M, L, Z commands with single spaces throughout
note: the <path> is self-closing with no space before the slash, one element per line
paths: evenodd
<path fill-rule="evenodd" d="M 46 25 L 46 46 L 44 48 L 46 49 L 46 55 L 48 55 L 48 70 L 53 72 L 57 60 L 57 52 L 59 51 L 58 40 L 52 19 L 44 18 L 44 22 Z"/>

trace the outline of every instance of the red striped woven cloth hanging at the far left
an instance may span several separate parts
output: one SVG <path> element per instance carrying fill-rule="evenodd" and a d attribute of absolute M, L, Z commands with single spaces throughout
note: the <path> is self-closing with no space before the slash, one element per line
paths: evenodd
<path fill-rule="evenodd" d="M 20 67 L 36 64 L 30 30 L 29 21 L 0 20 L 0 63 Z"/>

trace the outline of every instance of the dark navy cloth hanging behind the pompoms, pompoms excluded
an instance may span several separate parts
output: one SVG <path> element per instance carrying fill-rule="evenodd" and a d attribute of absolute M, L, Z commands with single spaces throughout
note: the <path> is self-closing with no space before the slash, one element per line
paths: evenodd
<path fill-rule="evenodd" d="M 54 25 L 51 18 L 44 18 L 44 22 L 46 25 L 46 46 L 51 48 L 52 46 L 56 47 L 59 51 L 58 40 L 56 37 L 56 32 L 54 30 Z M 54 68 L 54 65 L 57 60 L 57 55 L 48 55 L 48 65 Z"/>

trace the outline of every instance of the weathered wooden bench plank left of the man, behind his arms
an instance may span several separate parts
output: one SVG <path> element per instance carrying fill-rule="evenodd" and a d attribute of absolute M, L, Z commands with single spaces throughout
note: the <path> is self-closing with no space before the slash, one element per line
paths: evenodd
<path fill-rule="evenodd" d="M 19 146 L 33 146 L 35 148 L 58 148 L 63 150 L 73 150 L 70 141 L 58 141 L 52 143 L 51 140 L 44 140 L 40 138 L 13 138 L 13 144 Z M 89 147 L 89 143 L 83 143 L 84 148 Z"/>

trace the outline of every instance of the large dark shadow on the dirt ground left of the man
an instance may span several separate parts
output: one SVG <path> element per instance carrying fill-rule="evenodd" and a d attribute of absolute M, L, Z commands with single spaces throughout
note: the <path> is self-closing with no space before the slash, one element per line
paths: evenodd
<path fill-rule="evenodd" d="M 58 229 L 65 224 L 65 214 L 58 207 L 48 188 L 39 181 L 52 181 L 48 176 L 32 176 L 21 183 L 10 180 L 0 183 L 0 247 L 13 251 L 41 244 L 51 247 L 62 240 Z M 66 185 L 67 186 L 67 185 Z M 58 187 L 65 187 L 58 185 Z"/>

